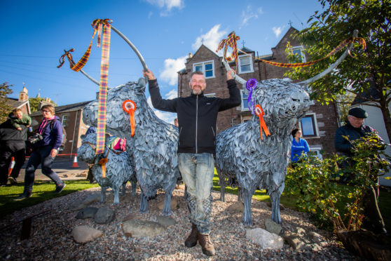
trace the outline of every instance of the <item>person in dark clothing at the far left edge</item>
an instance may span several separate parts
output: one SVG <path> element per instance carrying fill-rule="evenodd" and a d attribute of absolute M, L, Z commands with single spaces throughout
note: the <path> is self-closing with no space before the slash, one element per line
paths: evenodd
<path fill-rule="evenodd" d="M 5 186 L 7 179 L 11 184 L 16 183 L 20 168 L 25 163 L 27 127 L 20 126 L 20 131 L 14 128 L 11 119 L 0 125 L 0 185 Z M 15 158 L 15 166 L 8 177 L 8 167 L 11 158 Z"/>

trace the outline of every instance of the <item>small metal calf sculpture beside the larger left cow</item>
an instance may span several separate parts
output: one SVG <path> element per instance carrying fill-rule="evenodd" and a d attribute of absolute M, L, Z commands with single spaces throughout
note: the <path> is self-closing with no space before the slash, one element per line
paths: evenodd
<path fill-rule="evenodd" d="M 119 190 L 123 186 L 122 194 L 125 194 L 125 186 L 128 181 L 132 184 L 132 195 L 136 194 L 137 180 L 133 170 L 130 156 L 127 152 L 116 152 L 114 149 L 105 147 L 104 154 L 95 154 L 97 133 L 81 135 L 83 144 L 78 148 L 78 158 L 92 166 L 92 175 L 101 187 L 100 203 L 104 203 L 107 187 L 114 192 L 114 205 L 119 203 Z M 108 142 L 109 139 L 107 138 Z M 107 162 L 105 162 L 107 159 Z M 101 161 L 102 160 L 102 161 Z M 100 163 L 101 161 L 101 163 Z M 102 176 L 102 164 L 105 171 L 105 178 Z"/>

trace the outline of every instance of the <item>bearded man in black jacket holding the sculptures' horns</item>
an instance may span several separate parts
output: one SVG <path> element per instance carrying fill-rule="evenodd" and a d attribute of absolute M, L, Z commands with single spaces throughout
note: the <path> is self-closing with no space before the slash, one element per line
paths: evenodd
<path fill-rule="evenodd" d="M 217 113 L 240 105 L 240 91 L 230 71 L 227 73 L 229 98 L 207 98 L 203 94 L 206 88 L 203 72 L 193 72 L 188 83 L 190 96 L 163 100 L 153 73 L 149 70 L 144 72 L 144 76 L 149 79 L 153 107 L 166 112 L 176 112 L 178 116 L 178 166 L 187 187 L 192 223 L 185 246 L 191 248 L 199 242 L 205 255 L 214 255 L 214 246 L 210 240 L 210 214 Z"/>

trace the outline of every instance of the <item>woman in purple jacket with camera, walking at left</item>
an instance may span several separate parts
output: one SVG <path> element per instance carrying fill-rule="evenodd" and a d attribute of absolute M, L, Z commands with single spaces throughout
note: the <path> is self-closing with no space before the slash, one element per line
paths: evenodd
<path fill-rule="evenodd" d="M 25 190 L 14 200 L 22 200 L 32 196 L 32 187 L 34 185 L 34 173 L 41 163 L 42 173 L 47 175 L 50 180 L 55 182 L 55 193 L 62 192 L 65 183 L 60 180 L 57 173 L 52 170 L 52 164 L 57 156 L 58 149 L 62 143 L 62 124 L 60 119 L 55 116 L 55 107 L 53 105 L 43 105 L 41 108 L 43 120 L 39 124 L 36 133 L 41 135 L 36 143 L 34 150 L 27 162 L 25 171 Z"/>

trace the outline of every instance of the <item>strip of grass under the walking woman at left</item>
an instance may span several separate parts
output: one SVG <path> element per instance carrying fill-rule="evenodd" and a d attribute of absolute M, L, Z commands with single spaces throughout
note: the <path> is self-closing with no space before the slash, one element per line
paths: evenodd
<path fill-rule="evenodd" d="M 43 201 L 54 199 L 91 187 L 98 187 L 97 183 L 90 184 L 88 180 L 65 180 L 66 187 L 60 194 L 53 194 L 55 185 L 49 180 L 36 180 L 34 182 L 32 197 L 22 201 L 13 201 L 13 198 L 23 193 L 24 182 L 18 182 L 18 185 L 10 187 L 0 187 L 0 217 L 13 213 L 15 210 L 21 210 L 29 206 L 34 206 Z"/>

